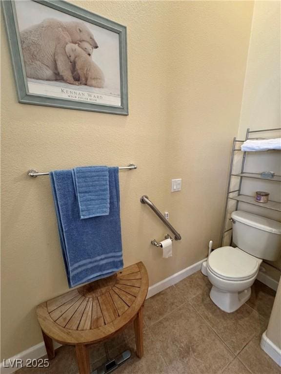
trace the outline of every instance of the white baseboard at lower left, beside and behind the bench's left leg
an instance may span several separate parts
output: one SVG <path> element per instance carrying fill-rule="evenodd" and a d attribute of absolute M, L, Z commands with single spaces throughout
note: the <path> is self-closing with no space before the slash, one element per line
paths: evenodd
<path fill-rule="evenodd" d="M 54 348 L 57 349 L 61 344 L 54 341 Z M 20 352 L 14 357 L 7 358 L 0 364 L 0 374 L 12 374 L 15 371 L 19 370 L 21 367 L 26 365 L 26 360 L 36 360 L 42 356 L 46 355 L 45 344 L 42 341 L 39 344 L 34 345 L 31 348 L 28 348 L 26 351 Z"/>

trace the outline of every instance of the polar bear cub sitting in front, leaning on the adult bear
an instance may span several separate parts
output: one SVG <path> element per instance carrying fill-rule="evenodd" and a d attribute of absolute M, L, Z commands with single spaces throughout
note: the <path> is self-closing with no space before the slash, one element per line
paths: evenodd
<path fill-rule="evenodd" d="M 83 45 L 85 48 L 85 44 Z M 85 53 L 84 48 L 68 43 L 65 47 L 66 55 L 70 63 L 75 63 L 75 70 L 80 76 L 80 84 L 87 86 L 103 88 L 104 75 L 99 66 L 92 60 L 91 54 Z"/>

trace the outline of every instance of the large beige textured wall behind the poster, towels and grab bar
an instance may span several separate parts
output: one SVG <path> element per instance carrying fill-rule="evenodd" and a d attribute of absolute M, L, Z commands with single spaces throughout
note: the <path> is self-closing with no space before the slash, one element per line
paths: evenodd
<path fill-rule="evenodd" d="M 136 163 L 120 172 L 124 263 L 143 261 L 150 284 L 203 259 L 221 229 L 253 2 L 75 3 L 128 28 L 130 114 L 19 104 L 3 33 L 2 358 L 42 340 L 35 306 L 68 289 L 49 180 L 27 177 L 30 167 Z M 143 194 L 182 235 L 171 259 L 150 244 L 167 229 Z"/>

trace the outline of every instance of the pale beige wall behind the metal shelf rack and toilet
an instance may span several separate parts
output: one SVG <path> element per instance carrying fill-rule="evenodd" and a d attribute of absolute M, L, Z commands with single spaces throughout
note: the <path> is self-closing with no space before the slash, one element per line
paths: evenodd
<path fill-rule="evenodd" d="M 245 138 L 247 128 L 263 130 L 281 127 L 280 7 L 280 1 L 255 2 L 238 139 Z M 280 137 L 281 131 L 250 134 L 250 137 L 254 136 Z M 236 154 L 235 168 L 240 172 L 241 153 Z M 257 173 L 270 170 L 281 175 L 280 152 L 247 153 L 244 170 Z M 239 182 L 239 178 L 234 177 L 233 180 Z M 233 190 L 236 187 L 237 185 L 232 185 Z M 241 192 L 254 196 L 255 191 L 268 191 L 271 200 L 281 201 L 279 183 L 244 178 Z M 230 204 L 230 207 L 233 210 L 233 204 Z M 277 211 L 243 203 L 239 204 L 239 209 L 281 221 L 281 214 Z M 281 261 L 274 262 L 274 264 L 281 267 Z M 278 270 L 266 264 L 263 266 L 268 275 L 279 281 Z"/>

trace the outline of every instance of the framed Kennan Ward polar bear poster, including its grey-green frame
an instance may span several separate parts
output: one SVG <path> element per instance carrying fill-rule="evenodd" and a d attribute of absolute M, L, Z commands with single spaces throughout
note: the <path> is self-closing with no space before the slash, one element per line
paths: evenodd
<path fill-rule="evenodd" d="M 20 103 L 128 114 L 125 26 L 60 0 L 1 6 Z"/>

